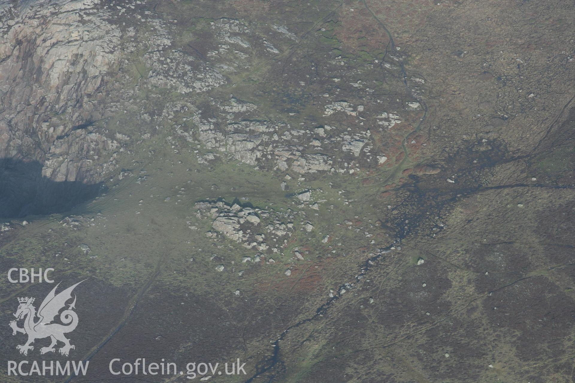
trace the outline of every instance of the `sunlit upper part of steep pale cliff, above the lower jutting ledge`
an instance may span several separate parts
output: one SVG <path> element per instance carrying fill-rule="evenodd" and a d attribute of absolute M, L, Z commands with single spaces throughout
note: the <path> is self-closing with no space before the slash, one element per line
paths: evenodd
<path fill-rule="evenodd" d="M 118 67 L 120 30 L 83 11 L 94 3 L 25 2 L 1 14 L 1 157 L 41 160 L 58 137 L 102 117 L 94 106 Z M 61 114 L 65 125 L 53 126 Z"/>

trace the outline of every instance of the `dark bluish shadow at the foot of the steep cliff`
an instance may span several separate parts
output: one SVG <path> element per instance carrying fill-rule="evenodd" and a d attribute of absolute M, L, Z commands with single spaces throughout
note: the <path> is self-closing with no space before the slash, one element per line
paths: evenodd
<path fill-rule="evenodd" d="M 0 218 L 65 212 L 97 196 L 101 187 L 43 177 L 42 164 L 35 160 L 0 158 Z"/>

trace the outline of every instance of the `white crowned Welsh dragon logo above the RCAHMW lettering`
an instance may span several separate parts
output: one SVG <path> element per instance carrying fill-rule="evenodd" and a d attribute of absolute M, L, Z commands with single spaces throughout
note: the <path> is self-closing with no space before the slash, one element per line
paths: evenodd
<path fill-rule="evenodd" d="M 56 288 L 60 285 L 57 284 L 42 301 L 38 314 L 36 314 L 36 307 L 32 305 L 34 298 L 18 298 L 20 305 L 14 316 L 16 316 L 17 320 L 24 319 L 24 328 L 18 327 L 16 320 L 10 322 L 10 327 L 13 330 L 12 335 L 16 335 L 17 332 L 28 334 L 28 341 L 24 345 L 16 346 L 20 350 L 20 354 L 28 355 L 28 350 L 34 349 L 34 346 L 30 346 L 31 343 L 34 343 L 34 340 L 48 338 L 48 336 L 52 339 L 52 343 L 48 347 L 42 347 L 40 354 L 55 352 L 54 346 L 56 346 L 57 341 L 64 343 L 64 346 L 58 350 L 62 355 L 68 356 L 70 350 L 76 348 L 70 344 L 70 339 L 64 336 L 64 334 L 74 331 L 76 326 L 78 326 L 78 315 L 72 310 L 75 308 L 76 295 L 74 295 L 74 301 L 69 305 L 68 309 L 60 314 L 60 321 L 67 326 L 51 322 L 58 315 L 58 312 L 66 306 L 66 301 L 72 298 L 72 290 L 82 282 L 80 281 L 56 295 Z M 34 322 L 36 315 L 39 319 Z"/>

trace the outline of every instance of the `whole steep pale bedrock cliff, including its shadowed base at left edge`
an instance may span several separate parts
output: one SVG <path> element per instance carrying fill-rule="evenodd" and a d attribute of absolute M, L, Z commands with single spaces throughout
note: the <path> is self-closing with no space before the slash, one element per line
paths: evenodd
<path fill-rule="evenodd" d="M 121 37 L 97 5 L 0 2 L 0 177 L 3 193 L 21 191 L 19 202 L 2 196 L 14 203 L 6 214 L 46 212 L 53 209 L 43 204 L 77 200 L 85 194 L 70 185 L 101 181 L 104 165 L 89 157 L 117 146 L 90 130 L 91 121 L 105 117 L 101 103 L 119 68 Z"/>

